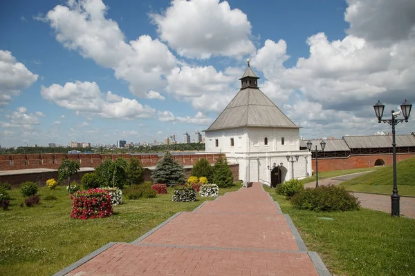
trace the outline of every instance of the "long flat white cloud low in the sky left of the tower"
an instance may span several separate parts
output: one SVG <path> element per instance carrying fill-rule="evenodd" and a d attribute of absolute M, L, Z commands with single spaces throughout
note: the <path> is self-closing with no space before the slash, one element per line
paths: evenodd
<path fill-rule="evenodd" d="M 54 83 L 48 88 L 42 86 L 40 92 L 44 99 L 58 106 L 104 118 L 148 118 L 155 112 L 136 99 L 120 97 L 110 91 L 102 93 L 95 82 L 67 82 L 64 86 Z"/>

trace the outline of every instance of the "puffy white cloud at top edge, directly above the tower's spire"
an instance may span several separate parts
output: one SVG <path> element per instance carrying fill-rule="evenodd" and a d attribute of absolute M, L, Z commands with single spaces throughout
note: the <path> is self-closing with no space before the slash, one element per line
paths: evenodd
<path fill-rule="evenodd" d="M 248 17 L 232 10 L 227 1 L 173 0 L 163 14 L 151 14 L 151 18 L 160 38 L 185 57 L 207 59 L 255 51 Z"/>

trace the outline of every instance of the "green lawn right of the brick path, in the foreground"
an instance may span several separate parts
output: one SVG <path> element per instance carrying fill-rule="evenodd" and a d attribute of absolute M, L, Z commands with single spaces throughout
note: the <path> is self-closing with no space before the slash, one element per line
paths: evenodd
<path fill-rule="evenodd" d="M 264 188 L 333 275 L 415 275 L 415 219 L 363 208 L 333 213 L 297 210 L 274 189 Z"/>

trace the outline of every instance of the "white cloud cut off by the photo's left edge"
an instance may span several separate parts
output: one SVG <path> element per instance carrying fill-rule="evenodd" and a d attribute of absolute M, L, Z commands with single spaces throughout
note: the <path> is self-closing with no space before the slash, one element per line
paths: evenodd
<path fill-rule="evenodd" d="M 21 90 L 32 86 L 39 77 L 4 50 L 0 50 L 0 76 L 0 106 L 6 106 L 13 96 L 20 95 Z"/>

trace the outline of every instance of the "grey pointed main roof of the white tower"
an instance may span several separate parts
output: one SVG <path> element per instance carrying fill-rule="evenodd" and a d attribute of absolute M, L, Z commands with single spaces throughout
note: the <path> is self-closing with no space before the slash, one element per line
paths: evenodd
<path fill-rule="evenodd" d="M 205 131 L 246 126 L 299 128 L 259 88 L 244 88 L 239 90 L 221 115 Z"/>

